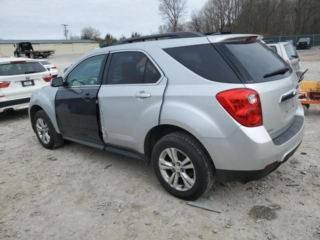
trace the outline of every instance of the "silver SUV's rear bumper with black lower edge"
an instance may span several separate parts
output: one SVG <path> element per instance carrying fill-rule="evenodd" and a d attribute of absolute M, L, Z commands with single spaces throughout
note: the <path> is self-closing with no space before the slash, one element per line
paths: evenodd
<path fill-rule="evenodd" d="M 260 178 L 283 163 L 297 149 L 304 134 L 304 115 L 298 104 L 293 124 L 279 137 L 271 139 L 264 126 L 238 127 L 226 138 L 198 137 L 223 181 Z M 271 167 L 268 164 L 275 162 Z M 224 176 L 225 174 L 225 176 Z"/>

